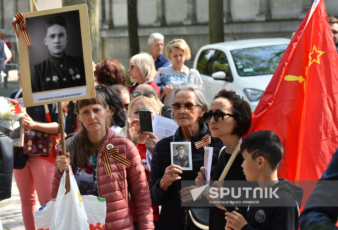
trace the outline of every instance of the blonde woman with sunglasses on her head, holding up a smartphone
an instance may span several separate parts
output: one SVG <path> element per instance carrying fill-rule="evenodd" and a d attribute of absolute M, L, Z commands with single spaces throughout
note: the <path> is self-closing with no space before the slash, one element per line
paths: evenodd
<path fill-rule="evenodd" d="M 128 106 L 127 113 L 127 122 L 125 135 L 129 140 L 131 140 L 137 147 L 139 154 L 141 156 L 141 161 L 144 166 L 144 170 L 147 176 L 147 181 L 149 182 L 150 174 L 150 165 L 151 160 L 147 160 L 147 152 L 154 151 L 156 143 L 159 141 L 152 132 L 143 132 L 140 131 L 140 122 L 139 122 L 139 110 L 150 110 L 153 118 L 153 114 L 161 116 L 161 106 L 158 103 L 155 93 L 151 91 L 138 91 L 131 94 L 131 101 Z M 124 129 L 123 129 L 124 130 Z M 124 132 L 124 131 L 123 131 Z M 149 162 L 150 161 L 150 162 Z M 159 225 L 160 220 L 160 210 L 159 206 L 152 204 L 153 210 L 153 221 L 154 226 Z M 134 221 L 134 226 L 137 227 L 137 218 L 134 214 L 134 208 L 131 205 L 131 216 Z"/>

